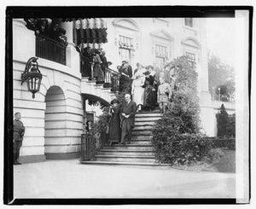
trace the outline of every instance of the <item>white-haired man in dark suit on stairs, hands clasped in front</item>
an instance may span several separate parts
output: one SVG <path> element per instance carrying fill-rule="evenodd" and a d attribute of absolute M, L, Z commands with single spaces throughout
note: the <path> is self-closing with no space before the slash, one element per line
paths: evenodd
<path fill-rule="evenodd" d="M 123 104 L 121 115 L 121 144 L 125 144 L 125 138 L 127 143 L 131 143 L 131 129 L 134 127 L 135 114 L 137 112 L 136 102 L 131 101 L 131 95 L 125 94 L 125 104 Z"/>

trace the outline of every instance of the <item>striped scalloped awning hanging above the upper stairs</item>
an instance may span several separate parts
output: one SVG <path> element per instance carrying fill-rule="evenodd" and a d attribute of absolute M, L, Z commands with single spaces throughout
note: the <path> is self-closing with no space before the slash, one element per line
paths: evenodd
<path fill-rule="evenodd" d="M 89 18 L 75 21 L 77 44 L 107 43 L 107 24 L 102 18 Z"/>

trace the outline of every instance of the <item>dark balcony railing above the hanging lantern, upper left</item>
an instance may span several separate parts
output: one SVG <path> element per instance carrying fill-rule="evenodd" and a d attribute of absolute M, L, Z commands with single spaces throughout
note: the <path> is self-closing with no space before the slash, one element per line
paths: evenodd
<path fill-rule="evenodd" d="M 66 65 L 66 46 L 51 38 L 36 35 L 36 56 Z"/>

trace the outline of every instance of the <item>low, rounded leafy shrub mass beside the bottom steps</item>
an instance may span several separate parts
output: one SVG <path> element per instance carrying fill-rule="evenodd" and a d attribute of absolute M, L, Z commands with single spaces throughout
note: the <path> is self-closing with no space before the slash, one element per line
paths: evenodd
<path fill-rule="evenodd" d="M 166 131 L 157 125 L 153 133 L 153 144 L 156 159 L 171 165 L 190 165 L 200 161 L 212 148 L 212 143 L 200 134 L 180 134 L 167 126 Z"/>

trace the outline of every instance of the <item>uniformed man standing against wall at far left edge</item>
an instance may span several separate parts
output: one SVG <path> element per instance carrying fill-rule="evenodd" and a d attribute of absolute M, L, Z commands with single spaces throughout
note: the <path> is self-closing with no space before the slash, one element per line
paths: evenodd
<path fill-rule="evenodd" d="M 20 148 L 23 141 L 23 136 L 25 133 L 25 127 L 20 121 L 20 113 L 15 113 L 14 120 L 14 165 L 21 165 L 19 162 Z"/>

